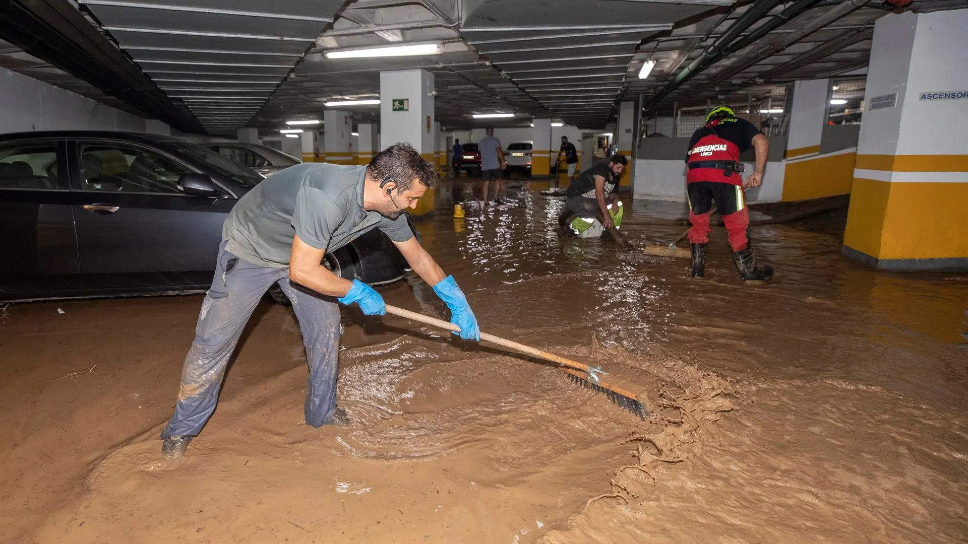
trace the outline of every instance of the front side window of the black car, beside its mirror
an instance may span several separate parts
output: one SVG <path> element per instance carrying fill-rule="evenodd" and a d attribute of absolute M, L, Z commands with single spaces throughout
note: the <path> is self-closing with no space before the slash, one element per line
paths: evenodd
<path fill-rule="evenodd" d="M 106 193 L 182 193 L 178 180 L 187 166 L 140 147 L 84 145 L 80 150 L 81 188 Z"/>

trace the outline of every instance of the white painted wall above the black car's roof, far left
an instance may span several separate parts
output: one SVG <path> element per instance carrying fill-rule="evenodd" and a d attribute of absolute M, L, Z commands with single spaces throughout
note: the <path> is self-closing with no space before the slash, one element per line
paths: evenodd
<path fill-rule="evenodd" d="M 0 133 L 66 130 L 143 133 L 144 119 L 0 68 Z"/>

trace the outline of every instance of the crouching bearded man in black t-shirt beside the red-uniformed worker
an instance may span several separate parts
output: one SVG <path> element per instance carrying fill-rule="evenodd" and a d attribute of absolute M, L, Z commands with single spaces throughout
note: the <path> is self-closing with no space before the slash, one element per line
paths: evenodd
<path fill-rule="evenodd" d="M 578 217 L 594 217 L 605 227 L 612 238 L 623 248 L 628 245 L 619 234 L 612 221 L 612 215 L 608 212 L 606 198 L 612 196 L 612 202 L 618 200 L 618 195 L 614 195 L 616 187 L 619 186 L 621 171 L 628 164 L 624 155 L 617 153 L 608 161 L 600 161 L 594 166 L 582 172 L 578 178 L 568 186 L 565 193 L 567 200 L 565 208 L 558 218 L 558 223 L 565 232 L 570 232 L 568 227 L 571 221 Z"/>

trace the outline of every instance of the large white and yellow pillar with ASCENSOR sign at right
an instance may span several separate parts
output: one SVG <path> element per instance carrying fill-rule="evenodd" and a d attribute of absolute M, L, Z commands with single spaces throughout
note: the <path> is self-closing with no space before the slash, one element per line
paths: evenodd
<path fill-rule="evenodd" d="M 968 270 L 968 10 L 874 24 L 843 253 L 887 270 Z M 954 55 L 954 56 L 953 56 Z"/>

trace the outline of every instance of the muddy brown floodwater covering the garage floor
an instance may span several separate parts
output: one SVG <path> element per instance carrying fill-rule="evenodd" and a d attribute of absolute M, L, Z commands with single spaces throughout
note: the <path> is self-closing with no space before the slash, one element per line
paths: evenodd
<path fill-rule="evenodd" d="M 15 305 L 0 541 L 968 541 L 968 276 L 844 260 L 842 212 L 755 227 L 776 273 L 746 287 L 721 228 L 695 282 L 684 259 L 562 240 L 560 198 L 464 220 L 446 204 L 418 227 L 482 329 L 648 384 L 649 421 L 547 366 L 348 311 L 354 424 L 315 430 L 296 323 L 266 302 L 215 416 L 166 467 L 200 297 Z M 637 201 L 623 230 L 670 240 L 680 212 Z M 382 291 L 447 315 L 418 279 Z"/>

